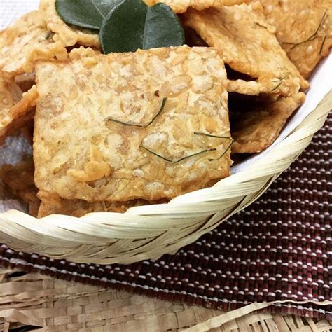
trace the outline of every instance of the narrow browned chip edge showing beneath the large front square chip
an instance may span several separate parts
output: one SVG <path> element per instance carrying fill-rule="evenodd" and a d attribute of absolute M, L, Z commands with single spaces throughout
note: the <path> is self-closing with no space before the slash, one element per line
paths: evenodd
<path fill-rule="evenodd" d="M 158 202 L 147 202 L 146 200 L 131 200 L 129 202 L 86 202 L 85 200 L 64 200 L 60 196 L 39 192 L 41 205 L 38 217 L 50 214 L 66 214 L 68 216 L 81 217 L 92 212 L 126 212 L 130 207 L 140 205 L 158 204 Z"/>

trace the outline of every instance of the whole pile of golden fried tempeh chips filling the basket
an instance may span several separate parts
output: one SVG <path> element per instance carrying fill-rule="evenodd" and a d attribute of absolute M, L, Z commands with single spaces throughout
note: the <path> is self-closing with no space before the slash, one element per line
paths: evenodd
<path fill-rule="evenodd" d="M 212 186 L 230 153 L 275 141 L 331 48 L 331 0 L 165 3 L 192 47 L 102 55 L 54 0 L 0 32 L 0 143 L 34 130 L 34 161 L 0 177 L 30 214 L 124 212 Z"/>

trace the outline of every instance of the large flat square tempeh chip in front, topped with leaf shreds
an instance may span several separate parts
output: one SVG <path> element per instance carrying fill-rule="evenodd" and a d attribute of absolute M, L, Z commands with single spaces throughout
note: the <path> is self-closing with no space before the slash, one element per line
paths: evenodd
<path fill-rule="evenodd" d="M 212 48 L 155 48 L 36 67 L 36 186 L 67 200 L 160 200 L 230 170 L 228 93 Z"/>

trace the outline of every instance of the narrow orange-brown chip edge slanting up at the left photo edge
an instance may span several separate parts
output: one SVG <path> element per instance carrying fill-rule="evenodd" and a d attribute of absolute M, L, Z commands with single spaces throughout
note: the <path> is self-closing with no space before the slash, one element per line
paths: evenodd
<path fill-rule="evenodd" d="M 15 134 L 21 127 L 29 123 L 29 120 L 32 120 L 37 97 L 34 86 L 25 92 L 22 99 L 10 109 L 0 110 L 0 146 L 4 144 L 6 137 Z"/>

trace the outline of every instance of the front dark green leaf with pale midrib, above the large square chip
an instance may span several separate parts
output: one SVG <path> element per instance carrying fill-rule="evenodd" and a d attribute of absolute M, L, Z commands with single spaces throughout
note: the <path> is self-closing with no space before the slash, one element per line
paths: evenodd
<path fill-rule="evenodd" d="M 184 29 L 169 6 L 159 3 L 148 7 L 141 0 L 124 0 L 113 8 L 103 20 L 99 39 L 105 54 L 185 42 Z"/>

